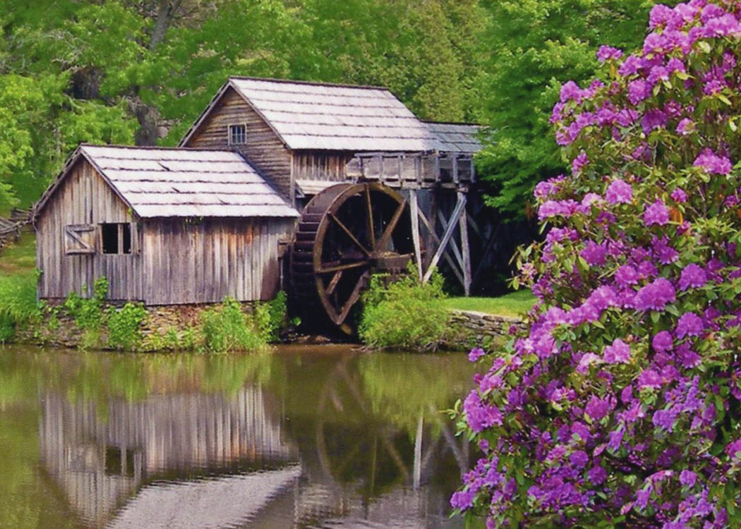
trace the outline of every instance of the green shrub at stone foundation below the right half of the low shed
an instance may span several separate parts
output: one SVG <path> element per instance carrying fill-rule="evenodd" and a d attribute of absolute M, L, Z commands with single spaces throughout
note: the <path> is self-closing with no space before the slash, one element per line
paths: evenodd
<path fill-rule="evenodd" d="M 242 312 L 236 299 L 226 298 L 222 305 L 201 314 L 203 347 L 210 353 L 262 350 L 270 337 L 270 313 L 258 305 L 250 316 Z"/>

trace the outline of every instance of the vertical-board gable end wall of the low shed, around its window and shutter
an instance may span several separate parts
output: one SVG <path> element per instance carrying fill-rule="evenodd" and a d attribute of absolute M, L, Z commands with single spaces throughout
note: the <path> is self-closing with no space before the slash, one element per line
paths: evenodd
<path fill-rule="evenodd" d="M 104 254 L 99 231 L 103 222 L 136 222 L 126 204 L 84 159 L 50 197 L 36 223 L 36 266 L 41 270 L 39 297 L 63 299 L 70 292 L 90 296 L 96 279 L 108 279 L 108 299 L 142 299 L 142 256 L 138 236 L 133 253 Z M 96 226 L 95 253 L 64 253 L 64 228 L 73 224 Z"/>

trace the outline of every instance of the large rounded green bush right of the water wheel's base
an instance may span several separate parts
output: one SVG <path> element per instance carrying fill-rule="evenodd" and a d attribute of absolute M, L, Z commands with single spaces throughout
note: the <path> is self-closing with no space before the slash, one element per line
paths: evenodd
<path fill-rule="evenodd" d="M 426 285 L 412 270 L 394 282 L 376 274 L 363 296 L 360 339 L 377 348 L 436 350 L 448 335 L 450 314 L 443 299 L 438 273 Z"/>

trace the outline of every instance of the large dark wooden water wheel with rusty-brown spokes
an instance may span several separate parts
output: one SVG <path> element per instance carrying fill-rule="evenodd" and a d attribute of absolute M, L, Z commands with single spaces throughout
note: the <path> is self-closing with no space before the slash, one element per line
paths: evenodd
<path fill-rule="evenodd" d="M 374 272 L 402 273 L 413 256 L 406 200 L 376 183 L 337 184 L 306 205 L 291 255 L 302 321 L 353 332 L 352 309 Z"/>

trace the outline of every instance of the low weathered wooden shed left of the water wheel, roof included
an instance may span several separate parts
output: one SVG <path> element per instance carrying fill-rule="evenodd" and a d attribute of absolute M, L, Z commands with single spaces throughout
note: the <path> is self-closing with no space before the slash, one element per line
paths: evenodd
<path fill-rule="evenodd" d="M 36 205 L 39 297 L 270 299 L 298 212 L 239 153 L 81 145 Z"/>

